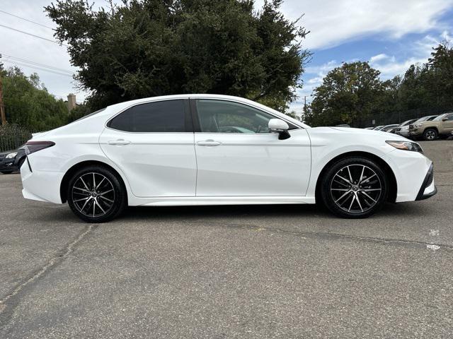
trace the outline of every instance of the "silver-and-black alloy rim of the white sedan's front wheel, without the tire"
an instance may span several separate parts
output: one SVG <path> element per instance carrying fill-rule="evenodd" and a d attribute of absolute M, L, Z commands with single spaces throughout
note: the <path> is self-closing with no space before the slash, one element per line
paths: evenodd
<path fill-rule="evenodd" d="M 333 202 L 347 213 L 365 213 L 373 208 L 382 194 L 382 182 L 366 165 L 347 165 L 331 180 Z"/>

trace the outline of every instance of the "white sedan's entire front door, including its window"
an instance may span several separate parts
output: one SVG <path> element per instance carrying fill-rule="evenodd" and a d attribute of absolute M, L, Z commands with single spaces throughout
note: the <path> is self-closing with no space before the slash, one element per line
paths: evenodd
<path fill-rule="evenodd" d="M 197 196 L 304 196 L 311 153 L 305 129 L 279 140 L 275 116 L 239 102 L 193 100 Z M 198 131 L 197 131 L 198 130 Z"/>

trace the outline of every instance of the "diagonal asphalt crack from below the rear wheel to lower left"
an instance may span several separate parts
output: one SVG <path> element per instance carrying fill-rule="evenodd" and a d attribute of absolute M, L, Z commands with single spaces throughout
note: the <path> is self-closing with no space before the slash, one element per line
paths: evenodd
<path fill-rule="evenodd" d="M 33 275 L 30 276 L 30 278 L 25 280 L 23 283 L 17 285 L 12 290 L 12 292 L 8 293 L 8 295 L 0 299 L 0 315 L 6 309 L 6 302 L 8 302 L 8 299 L 11 299 L 15 295 L 18 295 L 18 293 L 20 293 L 27 285 L 30 285 L 30 283 L 33 283 L 38 278 L 42 277 L 42 275 L 47 273 L 47 271 L 55 267 L 57 263 L 60 263 L 61 261 L 64 260 L 64 258 L 67 258 L 67 256 L 69 256 L 69 254 L 71 254 L 71 252 L 74 250 L 74 246 L 79 244 L 79 242 L 81 242 L 81 240 L 83 240 L 86 237 L 86 235 L 92 232 L 96 227 L 97 227 L 96 224 L 88 225 L 88 227 L 86 227 L 85 230 L 76 237 L 76 239 L 74 239 L 72 242 L 64 246 L 64 248 L 61 251 L 59 251 L 59 254 L 57 256 L 50 258 L 50 260 L 47 261 L 47 263 L 45 263 L 44 266 L 42 266 L 39 270 L 35 270 L 35 272 L 33 273 Z"/>

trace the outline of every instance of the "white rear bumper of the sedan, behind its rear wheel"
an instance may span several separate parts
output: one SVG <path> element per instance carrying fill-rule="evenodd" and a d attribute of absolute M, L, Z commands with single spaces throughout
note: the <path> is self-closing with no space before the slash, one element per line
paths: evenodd
<path fill-rule="evenodd" d="M 59 186 L 64 173 L 45 172 L 33 169 L 26 164 L 21 168 L 22 195 L 26 199 L 49 201 L 50 203 L 62 203 L 59 194 Z"/>

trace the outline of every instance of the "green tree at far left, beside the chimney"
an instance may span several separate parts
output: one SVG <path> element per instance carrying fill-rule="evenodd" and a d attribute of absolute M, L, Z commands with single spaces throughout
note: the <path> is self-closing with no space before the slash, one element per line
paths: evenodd
<path fill-rule="evenodd" d="M 48 131 L 67 122 L 67 107 L 40 83 L 38 74 L 31 76 L 13 67 L 3 71 L 4 105 L 8 123 L 30 131 Z"/>

